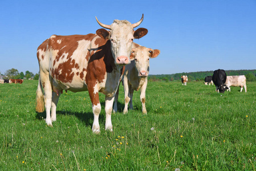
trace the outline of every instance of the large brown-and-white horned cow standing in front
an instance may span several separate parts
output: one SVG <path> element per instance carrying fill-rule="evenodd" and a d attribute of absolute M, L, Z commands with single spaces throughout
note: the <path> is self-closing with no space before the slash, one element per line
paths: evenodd
<path fill-rule="evenodd" d="M 94 113 L 92 131 L 99 133 L 101 92 L 105 95 L 105 129 L 113 131 L 111 113 L 123 66 L 131 63 L 129 56 L 133 39 L 139 39 L 148 32 L 146 28 L 133 30 L 143 18 L 134 24 L 116 19 L 111 25 L 104 25 L 96 18 L 97 23 L 109 31 L 101 28 L 96 34 L 52 35 L 38 47 L 40 79 L 36 91 L 36 111 L 43 112 L 45 103 L 47 125 L 52 126 L 52 121 L 56 120 L 56 105 L 63 89 L 88 91 Z"/>

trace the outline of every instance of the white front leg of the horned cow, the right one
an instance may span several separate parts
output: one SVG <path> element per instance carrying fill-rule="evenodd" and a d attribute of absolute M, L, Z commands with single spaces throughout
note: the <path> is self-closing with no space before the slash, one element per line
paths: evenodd
<path fill-rule="evenodd" d="M 113 131 L 113 126 L 111 122 L 111 113 L 113 109 L 113 97 L 105 96 L 105 113 L 106 113 L 106 122 L 105 122 L 105 130 Z"/>

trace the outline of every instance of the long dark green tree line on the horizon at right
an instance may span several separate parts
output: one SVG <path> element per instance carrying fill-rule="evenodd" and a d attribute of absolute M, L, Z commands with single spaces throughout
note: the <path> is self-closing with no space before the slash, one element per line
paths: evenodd
<path fill-rule="evenodd" d="M 206 76 L 212 76 L 214 71 L 198 71 L 198 72 L 182 72 L 176 74 L 161 74 L 161 75 L 149 75 L 148 80 L 152 82 L 156 81 L 173 81 L 180 80 L 181 75 L 187 75 L 188 81 L 204 81 Z M 256 82 L 256 70 L 226 70 L 227 76 L 229 75 L 245 75 L 247 82 Z"/>

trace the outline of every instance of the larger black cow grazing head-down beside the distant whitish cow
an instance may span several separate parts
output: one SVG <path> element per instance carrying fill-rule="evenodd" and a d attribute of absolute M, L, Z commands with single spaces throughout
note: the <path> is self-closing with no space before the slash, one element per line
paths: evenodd
<path fill-rule="evenodd" d="M 226 82 L 226 79 L 227 75 L 224 70 L 218 69 L 213 72 L 213 83 L 216 86 L 216 91 L 224 93 L 226 89 L 229 89 L 224 84 Z"/>

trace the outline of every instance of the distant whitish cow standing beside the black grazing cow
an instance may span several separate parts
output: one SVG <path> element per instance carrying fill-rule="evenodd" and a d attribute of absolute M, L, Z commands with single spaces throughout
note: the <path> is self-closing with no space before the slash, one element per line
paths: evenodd
<path fill-rule="evenodd" d="M 246 77 L 245 75 L 236 75 L 236 76 L 227 76 L 226 82 L 225 82 L 227 88 L 227 91 L 230 91 L 230 86 L 234 87 L 241 87 L 240 92 L 242 92 L 243 87 L 245 87 L 245 92 L 247 92 L 246 89 Z"/>

